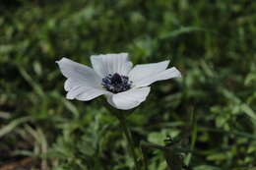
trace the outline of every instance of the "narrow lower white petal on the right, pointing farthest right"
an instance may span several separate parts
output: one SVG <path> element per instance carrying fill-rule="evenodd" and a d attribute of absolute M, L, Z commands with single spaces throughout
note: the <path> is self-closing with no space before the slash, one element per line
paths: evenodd
<path fill-rule="evenodd" d="M 135 87 L 147 86 L 147 85 L 151 85 L 157 81 L 168 80 L 168 79 L 176 78 L 176 77 L 181 77 L 181 74 L 175 67 L 172 67 L 170 69 L 164 70 L 164 71 L 162 71 L 158 74 L 155 74 L 153 76 L 149 76 L 142 80 L 134 82 L 134 85 L 135 85 Z"/>

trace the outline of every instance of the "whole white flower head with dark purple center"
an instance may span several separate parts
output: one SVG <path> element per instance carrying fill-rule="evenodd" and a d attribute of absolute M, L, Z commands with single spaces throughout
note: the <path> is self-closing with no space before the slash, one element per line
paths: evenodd
<path fill-rule="evenodd" d="M 104 94 L 110 105 L 128 110 L 145 101 L 149 85 L 181 76 L 175 67 L 167 69 L 169 61 L 132 68 L 127 53 L 93 55 L 91 62 L 93 69 L 67 58 L 56 61 L 67 78 L 68 99 L 88 101 Z"/>

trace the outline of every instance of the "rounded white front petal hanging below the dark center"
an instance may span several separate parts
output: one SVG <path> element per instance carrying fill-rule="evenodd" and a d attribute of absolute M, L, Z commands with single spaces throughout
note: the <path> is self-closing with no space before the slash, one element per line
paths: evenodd
<path fill-rule="evenodd" d="M 132 88 L 116 94 L 108 94 L 107 102 L 113 107 L 121 110 L 129 110 L 140 105 L 146 100 L 151 90 L 150 86 Z"/>

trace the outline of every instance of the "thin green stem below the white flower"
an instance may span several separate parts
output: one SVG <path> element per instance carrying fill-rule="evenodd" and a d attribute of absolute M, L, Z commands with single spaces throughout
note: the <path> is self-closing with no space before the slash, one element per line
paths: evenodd
<path fill-rule="evenodd" d="M 135 144 L 134 144 L 134 141 L 133 141 L 133 138 L 132 138 L 132 134 L 131 134 L 130 130 L 127 127 L 126 119 L 123 115 L 119 115 L 118 119 L 120 121 L 120 126 L 121 126 L 121 128 L 124 132 L 124 135 L 125 135 L 125 137 L 128 141 L 128 147 L 130 149 L 131 155 L 133 156 L 135 170 L 139 170 L 139 165 L 138 165 L 138 162 L 137 162 L 137 156 L 136 156 L 136 152 L 135 152 Z"/>

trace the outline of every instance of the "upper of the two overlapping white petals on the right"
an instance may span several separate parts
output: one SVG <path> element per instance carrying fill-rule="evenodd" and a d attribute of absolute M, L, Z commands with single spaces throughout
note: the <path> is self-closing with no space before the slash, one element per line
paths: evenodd
<path fill-rule="evenodd" d="M 160 63 L 141 64 L 136 65 L 129 73 L 129 80 L 134 84 L 140 82 L 145 78 L 157 75 L 168 67 L 169 61 L 162 61 Z"/>

